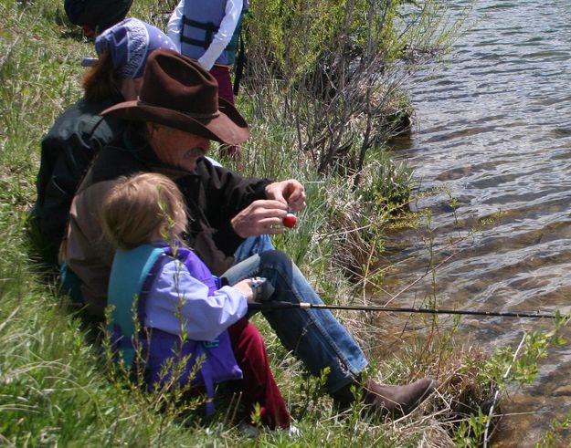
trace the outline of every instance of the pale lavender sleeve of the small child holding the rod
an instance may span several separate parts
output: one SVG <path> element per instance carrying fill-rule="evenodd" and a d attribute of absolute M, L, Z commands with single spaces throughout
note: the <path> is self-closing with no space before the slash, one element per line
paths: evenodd
<path fill-rule="evenodd" d="M 182 317 L 190 339 L 215 339 L 246 316 L 248 301 L 235 287 L 221 287 L 208 296 L 208 287 L 191 276 L 179 260 L 171 260 L 157 274 L 145 304 L 146 327 L 178 334 Z"/>

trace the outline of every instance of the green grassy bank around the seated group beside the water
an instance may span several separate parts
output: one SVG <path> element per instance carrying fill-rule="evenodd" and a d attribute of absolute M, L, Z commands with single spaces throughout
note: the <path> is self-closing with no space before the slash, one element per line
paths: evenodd
<path fill-rule="evenodd" d="M 81 40 L 79 29 L 66 22 L 59 3 L 0 3 L 0 443 L 341 447 L 453 446 L 481 441 L 489 420 L 486 412 L 479 413 L 481 404 L 491 401 L 498 387 L 516 375 L 533 380 L 536 362 L 555 341 L 554 335 L 528 339 L 523 348 L 528 358 L 503 378 L 506 367 L 513 364 L 513 352 L 504 349 L 491 358 L 463 349 L 454 341 L 454 325 L 441 330 L 435 319 L 412 318 L 414 327 L 422 331 L 407 333 L 406 342 L 379 357 L 386 334 L 378 322 L 340 313 L 344 325 L 374 359 L 368 374 L 396 384 L 431 375 L 441 384 L 439 393 L 406 419 L 374 422 L 360 417 L 358 405 L 337 414 L 323 394 L 322 381 L 309 378 L 265 321 L 256 317 L 276 380 L 301 430 L 297 437 L 260 432 L 255 440 L 248 439 L 229 422 L 231 408 L 221 408 L 213 422 L 202 422 L 201 412 L 174 406 L 172 397 L 143 393 L 109 374 L 97 331 L 69 309 L 41 276 L 26 241 L 39 142 L 58 114 L 79 99 L 83 73 L 79 60 L 94 53 L 92 45 Z M 165 17 L 158 13 L 173 5 L 135 2 L 132 16 L 163 26 Z M 271 51 L 279 55 L 278 50 Z M 393 58 L 386 55 L 385 63 Z M 245 145 L 244 172 L 276 179 L 295 177 L 306 185 L 309 209 L 296 230 L 275 243 L 301 266 L 323 297 L 362 303 L 365 289 L 382 279 L 384 271 L 377 261 L 383 232 L 398 205 L 407 200 L 409 172 L 390 161 L 371 133 L 366 139 L 358 137 L 359 126 L 371 127 L 367 128 L 368 119 L 360 121 L 354 114 L 345 117 L 347 110 L 340 105 L 346 104 L 346 98 L 328 104 L 338 119 L 347 118 L 351 129 L 343 132 L 350 133 L 338 129 L 327 139 L 352 143 L 323 146 L 327 139 L 318 131 L 322 121 L 316 120 L 323 109 L 304 102 L 300 89 L 307 79 L 297 78 L 299 84 L 288 85 L 284 81 L 298 76 L 301 68 L 291 69 L 289 78 L 276 79 L 262 78 L 264 70 L 252 72 L 238 97 L 238 109 L 252 130 Z M 394 112 L 395 100 L 379 91 L 371 93 L 377 104 L 390 106 L 386 116 L 389 109 Z M 386 121 L 373 124 L 383 127 L 381 123 Z M 213 154 L 217 155 L 216 149 Z M 330 156 L 336 162 L 323 164 Z M 355 183 L 357 168 L 363 171 Z M 391 317 L 384 323 L 394 328 Z"/>

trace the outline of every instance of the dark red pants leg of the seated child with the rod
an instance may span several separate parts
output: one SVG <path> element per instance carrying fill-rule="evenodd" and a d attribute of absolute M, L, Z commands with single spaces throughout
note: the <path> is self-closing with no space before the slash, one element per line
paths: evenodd
<path fill-rule="evenodd" d="M 228 333 L 238 366 L 244 374 L 242 380 L 233 381 L 233 385 L 242 392 L 248 415 L 253 411 L 254 404 L 259 403 L 262 422 L 272 429 L 275 426 L 289 428 L 290 412 L 273 379 L 268 352 L 258 328 L 242 318 L 228 328 Z"/>

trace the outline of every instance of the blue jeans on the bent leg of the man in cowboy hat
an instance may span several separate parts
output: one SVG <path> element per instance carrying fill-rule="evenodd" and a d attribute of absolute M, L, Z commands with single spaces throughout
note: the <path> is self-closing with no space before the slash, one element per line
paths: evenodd
<path fill-rule="evenodd" d="M 266 277 L 275 288 L 267 300 L 323 303 L 291 259 L 277 250 L 252 255 L 224 275 L 230 285 L 252 276 Z M 327 389 L 338 391 L 365 369 L 363 351 L 327 309 L 262 311 L 281 343 L 305 364 L 312 375 L 329 367 Z"/>

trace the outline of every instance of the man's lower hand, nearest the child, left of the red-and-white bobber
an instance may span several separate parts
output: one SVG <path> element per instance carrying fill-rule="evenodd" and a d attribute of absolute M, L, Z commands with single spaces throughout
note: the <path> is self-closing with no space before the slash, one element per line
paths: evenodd
<path fill-rule="evenodd" d="M 259 234 L 283 234 L 281 220 L 288 214 L 287 203 L 260 199 L 232 218 L 234 232 L 242 238 Z"/>

